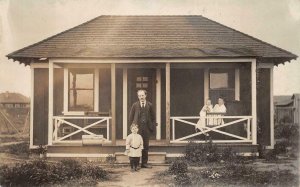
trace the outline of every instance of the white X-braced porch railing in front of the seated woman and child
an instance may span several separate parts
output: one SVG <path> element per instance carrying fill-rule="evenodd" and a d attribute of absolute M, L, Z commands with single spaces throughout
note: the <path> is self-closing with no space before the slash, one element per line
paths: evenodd
<path fill-rule="evenodd" d="M 208 132 L 216 132 L 219 134 L 223 134 L 232 138 L 235 138 L 233 140 L 213 140 L 214 142 L 220 142 L 220 143 L 228 143 L 228 142 L 252 142 L 251 139 L 251 119 L 252 116 L 221 116 L 221 115 L 213 115 L 213 116 L 206 116 L 206 117 L 201 117 L 201 120 L 205 120 L 205 126 L 204 127 L 200 127 L 199 128 L 199 132 L 195 132 L 193 134 L 184 136 L 184 137 L 179 137 L 176 138 L 176 121 L 187 124 L 187 125 L 191 125 L 196 127 L 197 124 L 195 122 L 189 121 L 189 120 L 199 120 L 199 116 L 174 116 L 171 117 L 172 120 L 172 141 L 171 143 L 186 143 L 189 141 L 190 138 L 196 137 L 198 135 L 201 134 L 206 134 Z M 230 122 L 224 122 L 224 119 L 233 119 L 233 121 Z M 211 125 L 211 122 L 209 121 L 213 121 L 213 125 Z M 222 121 L 222 123 L 219 123 L 218 125 L 216 125 L 216 121 Z M 241 123 L 244 122 L 244 123 Z M 238 124 L 237 124 L 238 123 Z M 246 124 L 246 128 L 247 128 L 247 137 L 242 137 L 236 134 L 232 134 L 229 132 L 225 132 L 220 130 L 220 128 L 222 127 L 227 127 L 230 125 L 243 125 Z M 194 140 L 195 142 L 204 142 L 203 140 Z"/>

